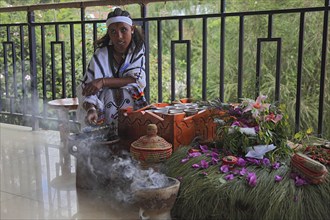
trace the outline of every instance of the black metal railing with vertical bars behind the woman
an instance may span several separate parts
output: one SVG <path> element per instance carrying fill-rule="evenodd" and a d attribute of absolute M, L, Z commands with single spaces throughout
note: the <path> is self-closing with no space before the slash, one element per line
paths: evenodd
<path fill-rule="evenodd" d="M 318 122 L 317 132 L 322 135 L 324 130 L 324 97 L 326 87 L 326 73 L 327 73 L 327 51 L 329 42 L 329 1 L 325 0 L 324 6 L 313 8 L 295 8 L 269 11 L 249 11 L 249 12 L 230 12 L 225 11 L 225 1 L 221 1 L 221 13 L 219 14 L 201 14 L 201 15 L 186 15 L 186 16 L 168 16 L 168 17 L 147 17 L 147 7 L 141 5 L 141 18 L 135 19 L 135 24 L 141 26 L 147 45 L 147 54 L 150 49 L 150 30 L 149 24 L 154 22 L 157 28 L 157 61 L 153 62 L 157 65 L 158 80 L 150 81 L 150 57 L 147 56 L 147 83 L 146 89 L 147 99 L 150 100 L 150 85 L 157 84 L 157 101 L 164 101 L 163 98 L 163 61 L 162 48 L 164 39 L 162 35 L 163 24 L 173 21 L 177 22 L 178 39 L 168 39 L 171 45 L 171 59 L 170 59 L 170 97 L 175 100 L 176 96 L 176 46 L 185 45 L 186 48 L 186 97 L 191 97 L 191 40 L 186 40 L 183 36 L 183 22 L 187 20 L 202 22 L 202 49 L 200 56 L 201 60 L 201 99 L 207 100 L 208 88 L 208 21 L 210 19 L 220 20 L 220 53 L 219 63 L 212 65 L 219 66 L 219 81 L 218 97 L 222 101 L 227 101 L 225 98 L 225 46 L 226 46 L 226 19 L 237 18 L 238 22 L 238 65 L 237 65 L 237 99 L 244 97 L 243 93 L 243 63 L 244 63 L 244 27 L 245 19 L 249 16 L 266 16 L 267 17 L 267 36 L 257 39 L 257 51 L 255 60 L 255 88 L 251 88 L 255 97 L 260 94 L 260 78 L 262 65 L 262 46 L 267 42 L 276 44 L 276 60 L 275 63 L 275 94 L 274 101 L 281 100 L 281 54 L 283 39 L 281 37 L 274 37 L 273 22 L 274 17 L 281 14 L 297 14 L 299 15 L 299 44 L 297 48 L 297 82 L 295 95 L 295 131 L 300 129 L 300 114 L 301 114 L 301 78 L 303 69 L 303 54 L 304 54 L 304 29 L 306 13 L 315 12 L 321 13 L 323 20 L 319 21 L 323 24 L 322 30 L 322 51 L 319 54 L 320 66 L 315 67 L 319 69 L 319 95 L 315 97 L 318 99 Z M 49 100 L 76 97 L 77 87 L 79 84 L 79 77 L 82 76 L 86 69 L 88 57 L 93 51 L 92 44 L 89 40 L 95 40 L 99 37 L 102 31 L 104 20 L 85 20 L 85 7 L 81 6 L 81 19 L 79 21 L 66 22 L 35 22 L 34 11 L 29 9 L 27 11 L 26 23 L 12 23 L 0 24 L 0 36 L 2 39 L 0 46 L 0 53 L 3 62 L 1 63 L 0 72 L 0 116 L 1 121 L 6 122 L 9 116 L 17 116 L 25 121 L 28 119 L 29 126 L 37 128 L 41 121 L 52 119 L 49 114 L 47 102 Z M 68 29 L 69 36 L 63 36 L 63 29 Z M 55 38 L 50 39 L 50 32 Z M 77 41 L 81 46 L 77 46 Z M 77 53 L 79 51 L 79 53 Z M 77 57 L 77 54 L 80 54 Z M 196 56 L 196 54 L 194 54 Z M 38 82 L 42 82 L 38 84 Z M 69 89 L 68 89 L 69 88 Z M 59 95 L 60 94 L 60 95 Z M 24 120 L 23 120 L 24 121 Z M 328 128 L 329 129 L 329 128 Z"/>

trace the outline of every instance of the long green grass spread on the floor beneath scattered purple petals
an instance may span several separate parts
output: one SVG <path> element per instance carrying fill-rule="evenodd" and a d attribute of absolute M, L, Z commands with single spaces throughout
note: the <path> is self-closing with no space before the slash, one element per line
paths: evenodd
<path fill-rule="evenodd" d="M 257 185 L 251 187 L 244 177 L 225 180 L 219 167 L 194 169 L 192 165 L 202 155 L 182 163 L 189 147 L 181 147 L 166 161 L 166 174 L 181 181 L 179 194 L 172 209 L 177 219 L 330 219 L 330 175 L 318 185 L 296 186 L 290 178 L 289 163 L 271 170 L 247 166 L 257 175 Z M 329 167 L 327 167 L 329 170 Z M 205 173 L 207 175 L 205 175 Z M 275 175 L 283 177 L 275 182 Z"/>

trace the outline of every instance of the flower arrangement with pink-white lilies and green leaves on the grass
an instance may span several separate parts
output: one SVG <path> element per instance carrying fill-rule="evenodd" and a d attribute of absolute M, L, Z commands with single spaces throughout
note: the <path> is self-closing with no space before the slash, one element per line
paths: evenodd
<path fill-rule="evenodd" d="M 240 104 L 209 102 L 218 124 L 217 145 L 240 156 L 255 150 L 258 159 L 266 153 L 273 160 L 275 156 L 291 154 L 292 149 L 287 146 L 290 131 L 285 106 L 265 103 L 266 99 L 267 96 L 261 95 L 256 100 L 244 98 Z"/>

